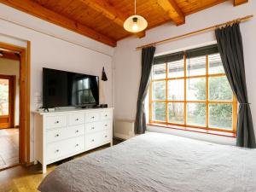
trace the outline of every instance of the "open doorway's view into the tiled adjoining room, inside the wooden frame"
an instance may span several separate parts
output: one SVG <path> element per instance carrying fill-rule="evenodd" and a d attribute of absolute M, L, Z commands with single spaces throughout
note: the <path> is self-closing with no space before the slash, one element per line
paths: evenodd
<path fill-rule="evenodd" d="M 20 55 L 0 49 L 0 169 L 19 160 Z"/>

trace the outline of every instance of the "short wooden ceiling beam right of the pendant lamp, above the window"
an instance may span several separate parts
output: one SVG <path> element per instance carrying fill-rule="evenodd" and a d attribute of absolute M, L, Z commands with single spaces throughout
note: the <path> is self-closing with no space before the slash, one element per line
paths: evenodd
<path fill-rule="evenodd" d="M 164 9 L 177 26 L 185 23 L 185 16 L 175 0 L 157 0 L 157 3 Z"/>

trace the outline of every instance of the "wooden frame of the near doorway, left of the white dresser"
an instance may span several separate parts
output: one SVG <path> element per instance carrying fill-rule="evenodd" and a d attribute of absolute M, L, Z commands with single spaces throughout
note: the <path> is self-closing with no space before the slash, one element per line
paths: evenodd
<path fill-rule="evenodd" d="M 0 42 L 0 48 L 20 53 L 20 128 L 19 159 L 20 164 L 30 164 L 30 86 L 31 86 L 31 43 L 26 48 Z"/>

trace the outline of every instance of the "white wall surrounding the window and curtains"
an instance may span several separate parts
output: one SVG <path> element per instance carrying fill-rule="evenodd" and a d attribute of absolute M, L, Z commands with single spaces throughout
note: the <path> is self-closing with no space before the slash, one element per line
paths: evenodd
<path fill-rule="evenodd" d="M 237 7 L 233 7 L 232 3 L 228 1 L 210 9 L 205 9 L 196 14 L 187 16 L 185 25 L 174 26 L 171 23 L 168 23 L 148 30 L 145 38 L 125 38 L 124 40 L 119 41 L 113 58 L 115 118 L 135 119 L 137 93 L 141 76 L 141 51 L 136 50 L 137 46 L 165 38 L 175 37 L 187 32 L 193 32 L 207 26 L 216 25 L 246 15 L 256 15 L 256 1 L 251 0 L 249 3 Z M 241 23 L 241 35 L 244 46 L 248 96 L 249 101 L 252 102 L 251 107 L 256 131 L 256 89 L 254 86 L 254 82 L 256 81 L 256 76 L 254 74 L 256 70 L 254 56 L 256 44 L 255 16 L 253 19 Z M 215 41 L 216 39 L 213 31 L 204 32 L 193 37 L 158 45 L 156 47 L 156 55 L 176 52 L 181 49 L 200 47 L 202 45 L 212 44 Z M 152 131 L 152 127 L 150 130 Z M 163 128 L 155 128 L 154 131 L 163 131 Z M 169 132 L 173 133 L 173 131 Z M 183 134 L 183 132 L 180 132 L 180 134 Z M 188 136 L 189 133 L 183 135 Z M 191 137 L 194 137 L 195 135 L 196 134 L 194 133 L 190 134 Z M 224 142 L 229 140 L 227 137 L 221 137 L 221 139 L 223 139 Z M 234 139 L 232 143 L 234 143 Z"/>

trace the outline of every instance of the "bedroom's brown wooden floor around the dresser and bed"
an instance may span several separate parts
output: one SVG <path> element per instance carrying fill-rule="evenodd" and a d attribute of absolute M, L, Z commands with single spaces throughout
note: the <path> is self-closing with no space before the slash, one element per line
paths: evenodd
<path fill-rule="evenodd" d="M 113 144 L 117 144 L 119 141 L 113 141 Z M 102 146 L 79 154 L 74 157 L 81 158 L 86 154 L 93 153 L 104 148 L 108 148 L 109 145 Z M 43 178 L 53 171 L 57 164 L 47 166 L 47 173 L 42 174 L 42 166 L 40 164 L 36 166 L 15 166 L 13 168 L 0 172 L 0 191 L 1 192 L 34 192 L 38 191 L 38 185 Z M 64 191 L 63 191 L 64 192 Z"/>

